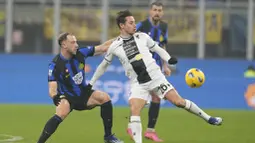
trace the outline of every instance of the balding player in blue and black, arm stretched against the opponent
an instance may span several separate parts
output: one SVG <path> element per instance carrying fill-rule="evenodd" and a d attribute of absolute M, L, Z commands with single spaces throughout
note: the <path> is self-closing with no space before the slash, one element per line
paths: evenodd
<path fill-rule="evenodd" d="M 112 134 L 110 96 L 87 85 L 84 71 L 85 59 L 106 52 L 111 40 L 99 46 L 79 48 L 74 35 L 63 33 L 58 43 L 61 52 L 49 64 L 48 73 L 49 94 L 56 105 L 56 113 L 46 123 L 37 143 L 45 143 L 73 109 L 90 110 L 96 106 L 101 107 L 105 143 L 122 143 Z"/>

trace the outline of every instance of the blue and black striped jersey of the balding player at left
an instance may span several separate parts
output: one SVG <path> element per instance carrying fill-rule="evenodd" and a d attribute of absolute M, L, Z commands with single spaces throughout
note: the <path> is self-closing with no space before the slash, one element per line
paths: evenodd
<path fill-rule="evenodd" d="M 65 59 L 58 54 L 49 64 L 48 81 L 58 83 L 59 94 L 80 96 L 83 88 L 87 86 L 85 79 L 85 60 L 93 56 L 95 48 L 88 46 L 79 48 L 71 59 Z"/>

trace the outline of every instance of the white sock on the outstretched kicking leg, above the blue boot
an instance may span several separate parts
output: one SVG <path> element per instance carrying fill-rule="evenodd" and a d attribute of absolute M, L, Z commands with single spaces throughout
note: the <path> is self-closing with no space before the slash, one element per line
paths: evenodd
<path fill-rule="evenodd" d="M 189 112 L 203 118 L 204 120 L 208 121 L 211 116 L 206 114 L 202 109 L 200 109 L 194 102 L 185 99 L 186 105 L 185 109 L 188 110 Z"/>

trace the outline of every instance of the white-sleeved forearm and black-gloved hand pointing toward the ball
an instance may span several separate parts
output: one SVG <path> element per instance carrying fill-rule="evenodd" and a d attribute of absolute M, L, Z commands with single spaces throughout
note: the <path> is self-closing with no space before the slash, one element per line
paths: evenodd
<path fill-rule="evenodd" d="M 156 52 L 157 54 L 159 54 L 161 59 L 163 59 L 164 61 L 168 62 L 168 64 L 176 64 L 178 62 L 175 57 L 171 57 L 166 52 L 166 50 L 164 50 L 161 47 L 159 47 L 156 43 L 152 47 L 150 47 L 150 50 L 152 52 Z"/>

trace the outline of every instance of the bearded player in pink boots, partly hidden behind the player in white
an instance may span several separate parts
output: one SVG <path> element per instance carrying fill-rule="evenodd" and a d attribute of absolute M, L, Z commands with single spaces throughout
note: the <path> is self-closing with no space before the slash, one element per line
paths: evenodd
<path fill-rule="evenodd" d="M 147 33 L 157 44 L 166 49 L 167 38 L 168 38 L 168 27 L 167 23 L 162 21 L 163 17 L 163 4 L 161 2 L 153 2 L 150 5 L 149 17 L 139 22 L 136 25 L 137 31 Z M 153 58 L 156 63 L 160 66 L 161 70 L 166 76 L 170 76 L 171 70 L 167 63 L 161 60 L 160 56 L 156 52 L 152 52 Z M 163 140 L 158 137 L 155 131 L 155 125 L 157 123 L 158 115 L 160 110 L 160 98 L 157 96 L 151 97 L 150 107 L 149 107 L 149 120 L 147 125 L 147 130 L 144 136 L 155 142 L 162 142 Z M 128 125 L 127 133 L 132 137 L 132 131 Z"/>

